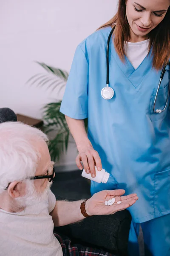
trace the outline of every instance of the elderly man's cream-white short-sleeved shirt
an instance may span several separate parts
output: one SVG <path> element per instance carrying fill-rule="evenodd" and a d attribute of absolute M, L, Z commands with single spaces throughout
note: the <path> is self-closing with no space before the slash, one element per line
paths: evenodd
<path fill-rule="evenodd" d="M 55 205 L 55 195 L 49 190 L 46 200 L 26 207 L 22 212 L 0 209 L 0 255 L 63 256 L 49 215 Z"/>

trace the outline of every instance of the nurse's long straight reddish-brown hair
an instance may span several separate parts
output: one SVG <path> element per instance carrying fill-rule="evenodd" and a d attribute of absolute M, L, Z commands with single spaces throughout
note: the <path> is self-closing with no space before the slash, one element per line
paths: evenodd
<path fill-rule="evenodd" d="M 114 30 L 114 47 L 119 55 L 119 58 L 124 61 L 125 49 L 124 41 L 130 39 L 129 23 L 126 17 L 126 0 L 119 0 L 118 12 L 107 23 L 99 27 L 99 29 L 115 26 Z M 152 47 L 153 67 L 159 70 L 170 59 L 170 7 L 164 19 L 149 33 L 150 45 Z"/>

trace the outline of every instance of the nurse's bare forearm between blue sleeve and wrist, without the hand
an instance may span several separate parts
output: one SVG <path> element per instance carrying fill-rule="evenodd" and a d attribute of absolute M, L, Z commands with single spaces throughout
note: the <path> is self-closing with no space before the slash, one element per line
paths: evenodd
<path fill-rule="evenodd" d="M 87 147 L 91 145 L 90 140 L 88 139 L 87 133 L 85 131 L 85 122 L 84 120 L 73 119 L 69 116 L 65 116 L 70 132 L 76 142 L 77 149 L 79 150 L 82 147 Z"/>

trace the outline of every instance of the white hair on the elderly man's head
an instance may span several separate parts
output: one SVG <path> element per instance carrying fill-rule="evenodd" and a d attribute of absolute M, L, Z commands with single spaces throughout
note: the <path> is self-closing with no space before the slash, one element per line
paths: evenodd
<path fill-rule="evenodd" d="M 21 122 L 0 123 L 0 193 L 14 180 L 34 176 L 40 153 L 34 141 L 48 137 L 39 129 Z"/>

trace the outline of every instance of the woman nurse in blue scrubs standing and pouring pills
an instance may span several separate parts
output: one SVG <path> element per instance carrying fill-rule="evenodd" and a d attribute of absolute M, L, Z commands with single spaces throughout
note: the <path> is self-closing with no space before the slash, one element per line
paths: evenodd
<path fill-rule="evenodd" d="M 109 44 L 109 86 L 106 86 Z M 145 256 L 170 256 L 170 108 L 169 65 L 154 104 L 161 70 L 170 60 L 170 0 L 119 0 L 117 14 L 76 49 L 60 111 L 65 114 L 87 173 L 110 172 L 106 184 L 91 182 L 91 194 L 103 189 L 137 193 L 129 211 L 129 255 L 139 256 L 142 226 Z M 167 108 L 161 113 L 168 99 Z M 88 136 L 84 119 L 88 117 Z"/>

